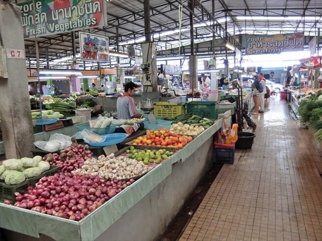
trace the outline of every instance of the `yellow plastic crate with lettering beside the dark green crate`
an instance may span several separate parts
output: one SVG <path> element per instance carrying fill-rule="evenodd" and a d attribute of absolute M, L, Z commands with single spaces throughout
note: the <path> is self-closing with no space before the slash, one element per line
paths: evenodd
<path fill-rule="evenodd" d="M 156 102 L 154 104 L 153 114 L 157 117 L 172 118 L 185 113 L 185 104 L 176 104 L 169 102 Z"/>

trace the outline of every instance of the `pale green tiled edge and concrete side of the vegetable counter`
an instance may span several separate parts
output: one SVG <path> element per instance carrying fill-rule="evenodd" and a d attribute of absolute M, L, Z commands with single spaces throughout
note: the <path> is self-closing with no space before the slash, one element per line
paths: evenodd
<path fill-rule="evenodd" d="M 222 119 L 216 120 L 167 161 L 79 222 L 0 203 L 0 227 L 11 240 L 155 240 L 212 166 L 213 134 L 221 126 Z"/>

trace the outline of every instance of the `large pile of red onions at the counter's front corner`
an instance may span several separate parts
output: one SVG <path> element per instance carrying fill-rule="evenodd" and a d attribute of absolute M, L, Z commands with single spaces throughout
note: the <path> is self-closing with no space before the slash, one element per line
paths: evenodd
<path fill-rule="evenodd" d="M 41 178 L 36 187 L 29 186 L 25 194 L 16 192 L 14 205 L 79 221 L 133 182 L 134 179 L 106 181 L 98 176 L 56 173 Z M 8 200 L 4 203 L 11 204 Z"/>

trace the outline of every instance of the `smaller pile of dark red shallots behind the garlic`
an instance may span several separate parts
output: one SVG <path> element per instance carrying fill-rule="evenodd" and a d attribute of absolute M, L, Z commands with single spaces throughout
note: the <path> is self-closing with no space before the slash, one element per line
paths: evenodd
<path fill-rule="evenodd" d="M 93 153 L 89 150 L 88 145 L 73 143 L 58 153 L 50 153 L 43 157 L 43 161 L 48 161 L 51 165 L 60 166 L 61 172 L 71 172 L 77 168 L 81 168 Z"/>

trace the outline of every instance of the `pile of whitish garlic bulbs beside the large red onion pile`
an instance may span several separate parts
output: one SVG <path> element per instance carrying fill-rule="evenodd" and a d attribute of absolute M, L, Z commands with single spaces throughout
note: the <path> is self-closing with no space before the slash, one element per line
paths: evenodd
<path fill-rule="evenodd" d="M 72 171 L 72 174 L 93 175 L 106 180 L 124 180 L 142 175 L 150 170 L 142 161 L 127 158 L 126 156 L 115 157 L 111 154 L 107 157 L 99 156 L 98 159 L 88 159 L 82 168 Z"/>

